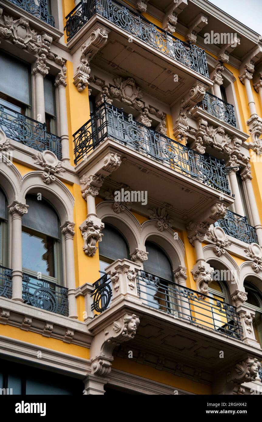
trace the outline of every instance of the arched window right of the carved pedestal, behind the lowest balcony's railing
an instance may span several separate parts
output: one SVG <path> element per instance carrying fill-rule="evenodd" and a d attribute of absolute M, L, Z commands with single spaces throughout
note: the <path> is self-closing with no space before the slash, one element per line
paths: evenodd
<path fill-rule="evenodd" d="M 173 314 L 177 310 L 177 298 L 170 260 L 156 243 L 147 241 L 145 246 L 149 254 L 139 279 L 140 298 L 146 299 L 148 306 Z"/>

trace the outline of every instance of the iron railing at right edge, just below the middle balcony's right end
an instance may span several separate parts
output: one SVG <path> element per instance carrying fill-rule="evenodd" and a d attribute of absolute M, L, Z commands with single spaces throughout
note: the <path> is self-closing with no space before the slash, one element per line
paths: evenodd
<path fill-rule="evenodd" d="M 224 232 L 246 243 L 258 243 L 255 227 L 248 224 L 247 217 L 242 217 L 233 211 L 227 210 L 226 216 L 215 222 Z"/>

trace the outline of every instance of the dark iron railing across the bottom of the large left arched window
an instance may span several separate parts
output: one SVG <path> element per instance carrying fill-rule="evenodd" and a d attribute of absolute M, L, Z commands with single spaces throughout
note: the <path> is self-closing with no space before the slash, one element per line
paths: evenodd
<path fill-rule="evenodd" d="M 25 273 L 22 285 L 24 303 L 68 317 L 68 289 L 66 287 Z"/>

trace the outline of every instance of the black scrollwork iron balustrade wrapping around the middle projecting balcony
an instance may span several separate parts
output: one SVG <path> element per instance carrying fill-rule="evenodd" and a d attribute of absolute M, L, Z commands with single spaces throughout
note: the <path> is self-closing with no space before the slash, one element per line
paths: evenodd
<path fill-rule="evenodd" d="M 74 135 L 75 164 L 105 138 L 111 138 L 173 170 L 230 194 L 224 161 L 202 155 L 130 119 L 124 111 L 103 103 Z"/>

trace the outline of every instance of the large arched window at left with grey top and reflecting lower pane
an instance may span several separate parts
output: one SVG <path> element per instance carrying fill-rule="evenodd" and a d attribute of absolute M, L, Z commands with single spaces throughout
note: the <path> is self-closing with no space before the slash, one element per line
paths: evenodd
<path fill-rule="evenodd" d="M 60 224 L 56 211 L 43 198 L 27 195 L 22 218 L 22 267 L 34 278 L 62 284 Z"/>

